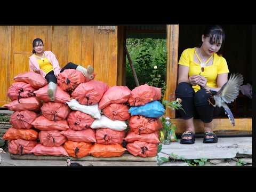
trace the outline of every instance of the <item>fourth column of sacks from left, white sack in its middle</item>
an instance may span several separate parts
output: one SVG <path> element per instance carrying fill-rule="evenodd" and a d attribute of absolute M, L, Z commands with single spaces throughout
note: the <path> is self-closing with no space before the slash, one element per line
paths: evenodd
<path fill-rule="evenodd" d="M 129 107 L 125 104 L 130 98 L 131 90 L 127 86 L 110 87 L 103 94 L 99 108 L 103 115 L 95 119 L 91 127 L 96 130 L 96 140 L 90 151 L 94 157 L 119 157 L 126 151 L 122 146 L 127 124 L 130 118 Z"/>

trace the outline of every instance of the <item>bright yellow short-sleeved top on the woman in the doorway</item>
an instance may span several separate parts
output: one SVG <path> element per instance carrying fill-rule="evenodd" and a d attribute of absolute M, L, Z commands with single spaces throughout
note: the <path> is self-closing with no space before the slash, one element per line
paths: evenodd
<path fill-rule="evenodd" d="M 201 72 L 201 66 L 194 61 L 195 48 L 189 48 L 182 52 L 179 60 L 179 65 L 189 67 L 188 76 L 199 75 Z M 225 58 L 220 57 L 217 53 L 213 54 L 213 63 L 210 66 L 204 67 L 204 72 L 201 75 L 207 79 L 207 86 L 218 87 L 217 76 L 219 74 L 229 73 L 227 61 Z M 195 92 L 200 90 L 200 86 L 192 86 Z"/>

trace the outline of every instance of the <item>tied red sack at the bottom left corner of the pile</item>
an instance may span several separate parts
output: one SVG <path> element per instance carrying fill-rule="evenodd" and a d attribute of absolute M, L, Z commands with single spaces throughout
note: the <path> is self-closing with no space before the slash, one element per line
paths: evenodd
<path fill-rule="evenodd" d="M 8 150 L 10 154 L 31 154 L 31 150 L 37 145 L 36 141 L 31 140 L 11 140 L 8 142 Z"/>

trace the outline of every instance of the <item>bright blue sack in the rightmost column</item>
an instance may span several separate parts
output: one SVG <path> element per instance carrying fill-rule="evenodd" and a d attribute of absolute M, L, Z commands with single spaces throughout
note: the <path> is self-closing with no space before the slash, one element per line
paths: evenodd
<path fill-rule="evenodd" d="M 159 118 L 165 113 L 164 106 L 159 101 L 149 102 L 144 106 L 131 107 L 130 114 L 142 115 L 150 118 Z"/>

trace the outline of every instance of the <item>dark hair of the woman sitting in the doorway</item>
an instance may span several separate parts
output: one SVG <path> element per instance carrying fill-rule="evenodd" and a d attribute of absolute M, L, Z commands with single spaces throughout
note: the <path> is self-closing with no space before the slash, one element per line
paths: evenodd
<path fill-rule="evenodd" d="M 205 29 L 203 31 L 203 35 L 204 35 L 204 37 L 209 37 L 210 43 L 212 43 L 212 44 L 214 44 L 214 43 L 219 44 L 220 40 L 222 39 L 222 44 L 221 44 L 220 50 L 217 52 L 217 54 L 221 56 L 222 55 L 222 53 L 221 53 L 222 47 L 225 42 L 225 31 L 223 30 L 223 28 L 219 25 L 208 25 L 205 27 Z M 203 44 L 203 42 L 201 42 L 198 47 L 201 47 L 202 44 Z"/>

